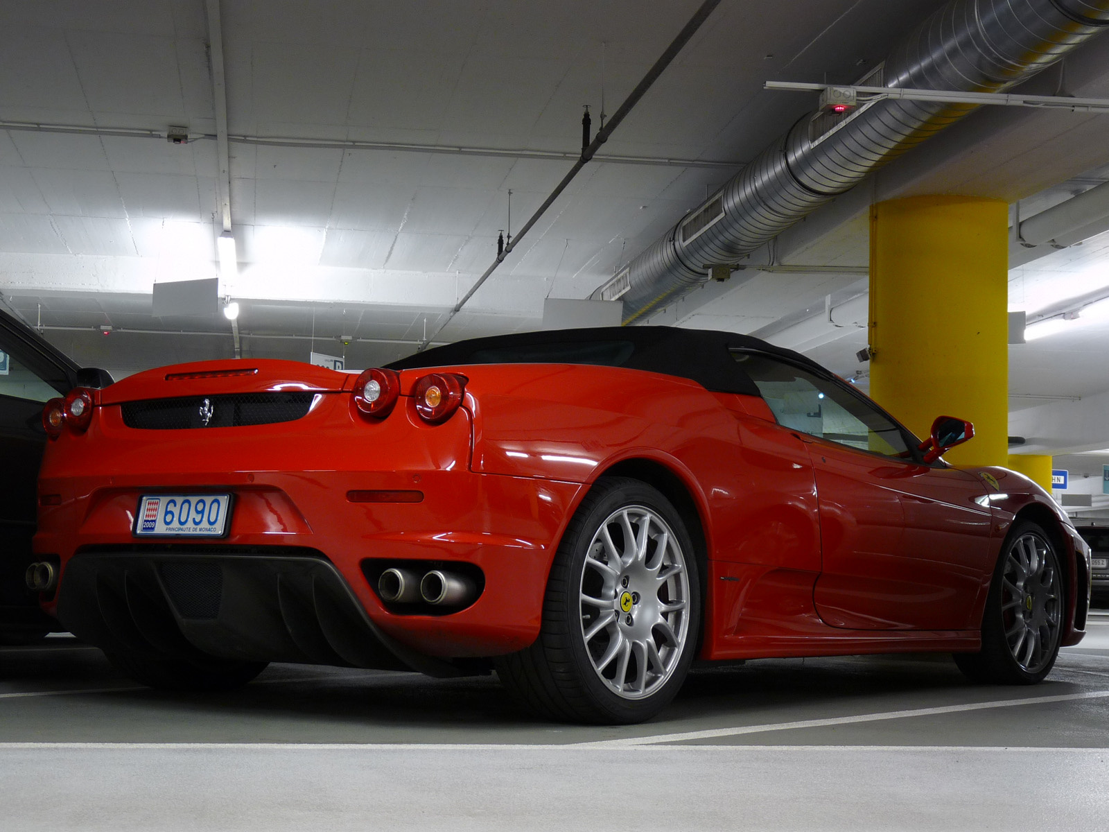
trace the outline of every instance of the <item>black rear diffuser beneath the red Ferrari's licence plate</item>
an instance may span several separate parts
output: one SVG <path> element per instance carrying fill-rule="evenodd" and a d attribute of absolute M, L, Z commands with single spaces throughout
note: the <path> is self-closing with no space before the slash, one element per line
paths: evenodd
<path fill-rule="evenodd" d="M 85 552 L 58 615 L 108 652 L 450 671 L 381 632 L 318 554 Z"/>

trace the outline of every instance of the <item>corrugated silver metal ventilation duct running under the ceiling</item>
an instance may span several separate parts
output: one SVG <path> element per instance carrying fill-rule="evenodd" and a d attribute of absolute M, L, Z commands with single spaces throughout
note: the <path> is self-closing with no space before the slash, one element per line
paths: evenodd
<path fill-rule="evenodd" d="M 1000 92 L 1106 26 L 1109 0 L 953 0 L 858 83 Z M 843 116 L 805 116 L 593 297 L 622 296 L 632 323 L 704 283 L 705 266 L 736 263 L 974 109 L 884 100 Z"/>

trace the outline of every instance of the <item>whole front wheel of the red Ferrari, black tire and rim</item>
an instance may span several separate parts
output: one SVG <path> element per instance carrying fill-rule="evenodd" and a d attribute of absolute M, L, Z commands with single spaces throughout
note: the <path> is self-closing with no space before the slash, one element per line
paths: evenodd
<path fill-rule="evenodd" d="M 959 670 L 989 684 L 1035 684 L 1051 672 L 1067 609 L 1065 576 L 1051 536 L 1038 524 L 1016 524 L 994 569 L 981 650 L 955 653 Z"/>

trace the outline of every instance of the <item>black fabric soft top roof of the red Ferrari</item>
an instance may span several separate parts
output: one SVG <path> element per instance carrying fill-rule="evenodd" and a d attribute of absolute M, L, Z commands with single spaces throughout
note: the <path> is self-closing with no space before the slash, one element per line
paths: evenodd
<path fill-rule="evenodd" d="M 792 349 L 750 335 L 673 326 L 607 326 L 471 338 L 416 353 L 391 369 L 466 364 L 594 364 L 663 373 L 705 389 L 757 396 L 759 388 L 736 364 L 733 349 L 769 353 L 827 376 L 828 372 Z"/>

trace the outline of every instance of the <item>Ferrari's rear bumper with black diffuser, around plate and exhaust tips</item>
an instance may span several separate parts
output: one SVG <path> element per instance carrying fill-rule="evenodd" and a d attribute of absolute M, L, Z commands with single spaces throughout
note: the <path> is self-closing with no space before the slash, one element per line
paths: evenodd
<path fill-rule="evenodd" d="M 258 650 L 253 656 L 256 659 L 358 667 L 377 667 L 381 659 L 374 658 L 377 653 L 367 658 L 350 652 L 349 647 L 346 653 L 338 650 L 337 646 L 348 645 L 346 636 L 337 645 L 326 639 L 324 643 L 318 632 L 303 636 L 295 626 L 307 616 L 296 610 L 315 609 L 316 587 L 329 593 L 326 598 L 343 599 L 338 606 L 322 601 L 321 609 L 346 610 L 349 626 L 344 625 L 344 633 L 360 632 L 368 643 L 381 642 L 384 637 L 386 643 L 395 642 L 387 651 L 394 656 L 398 647 L 413 656 L 441 659 L 489 657 L 520 650 L 535 641 L 550 565 L 581 488 L 576 484 L 467 470 L 425 470 L 417 475 L 208 474 L 176 476 L 170 481 L 135 475 L 119 475 L 109 481 L 104 477 L 44 477 L 40 487 L 63 495 L 60 506 L 43 509 L 35 537 L 40 557 L 57 555 L 61 560 L 58 599 L 44 601 L 43 608 L 79 637 L 113 649 L 124 643 L 120 641 L 121 632 L 135 635 L 138 625 L 126 622 L 129 617 L 141 618 L 142 613 L 130 606 L 130 581 L 135 591 L 142 590 L 140 597 L 162 599 L 156 605 L 160 612 L 155 631 L 169 630 L 172 625 L 190 649 L 223 655 L 216 650 L 238 645 L 237 655 L 245 657 L 241 648 L 251 643 Z M 356 489 L 401 488 L 419 488 L 424 500 L 364 504 L 352 503 L 347 496 Z M 142 494 L 228 490 L 235 496 L 235 507 L 231 532 L 223 540 L 151 540 L 132 532 Z M 314 556 L 298 565 L 284 559 L 286 552 L 296 549 Z M 160 578 L 163 565 L 174 558 L 213 564 L 225 574 L 223 591 L 232 592 L 226 596 L 226 615 L 232 618 L 215 627 L 180 615 Z M 390 611 L 366 577 L 373 570 L 364 566 L 367 561 L 391 560 L 471 564 L 485 576 L 484 590 L 472 605 L 450 615 Z M 289 590 L 294 593 L 289 597 L 307 600 L 291 607 L 294 601 L 281 595 L 281 587 L 286 585 L 296 587 Z M 109 593 L 104 596 L 106 603 L 114 603 L 116 612 L 98 618 L 95 608 L 105 603 L 101 598 L 104 592 Z M 119 599 L 123 607 L 116 603 Z M 350 611 L 348 601 L 357 605 L 357 615 Z M 286 619 L 283 616 L 288 610 L 293 610 L 293 618 Z M 313 615 L 323 621 L 329 613 Z M 305 625 L 313 632 L 313 628 L 322 626 Z M 210 639 L 203 635 L 212 631 L 220 636 Z M 144 641 L 135 643 L 142 646 Z M 322 648 L 308 649 L 312 645 Z M 180 643 L 177 647 L 184 649 Z M 413 664 L 410 656 L 405 663 Z"/>

